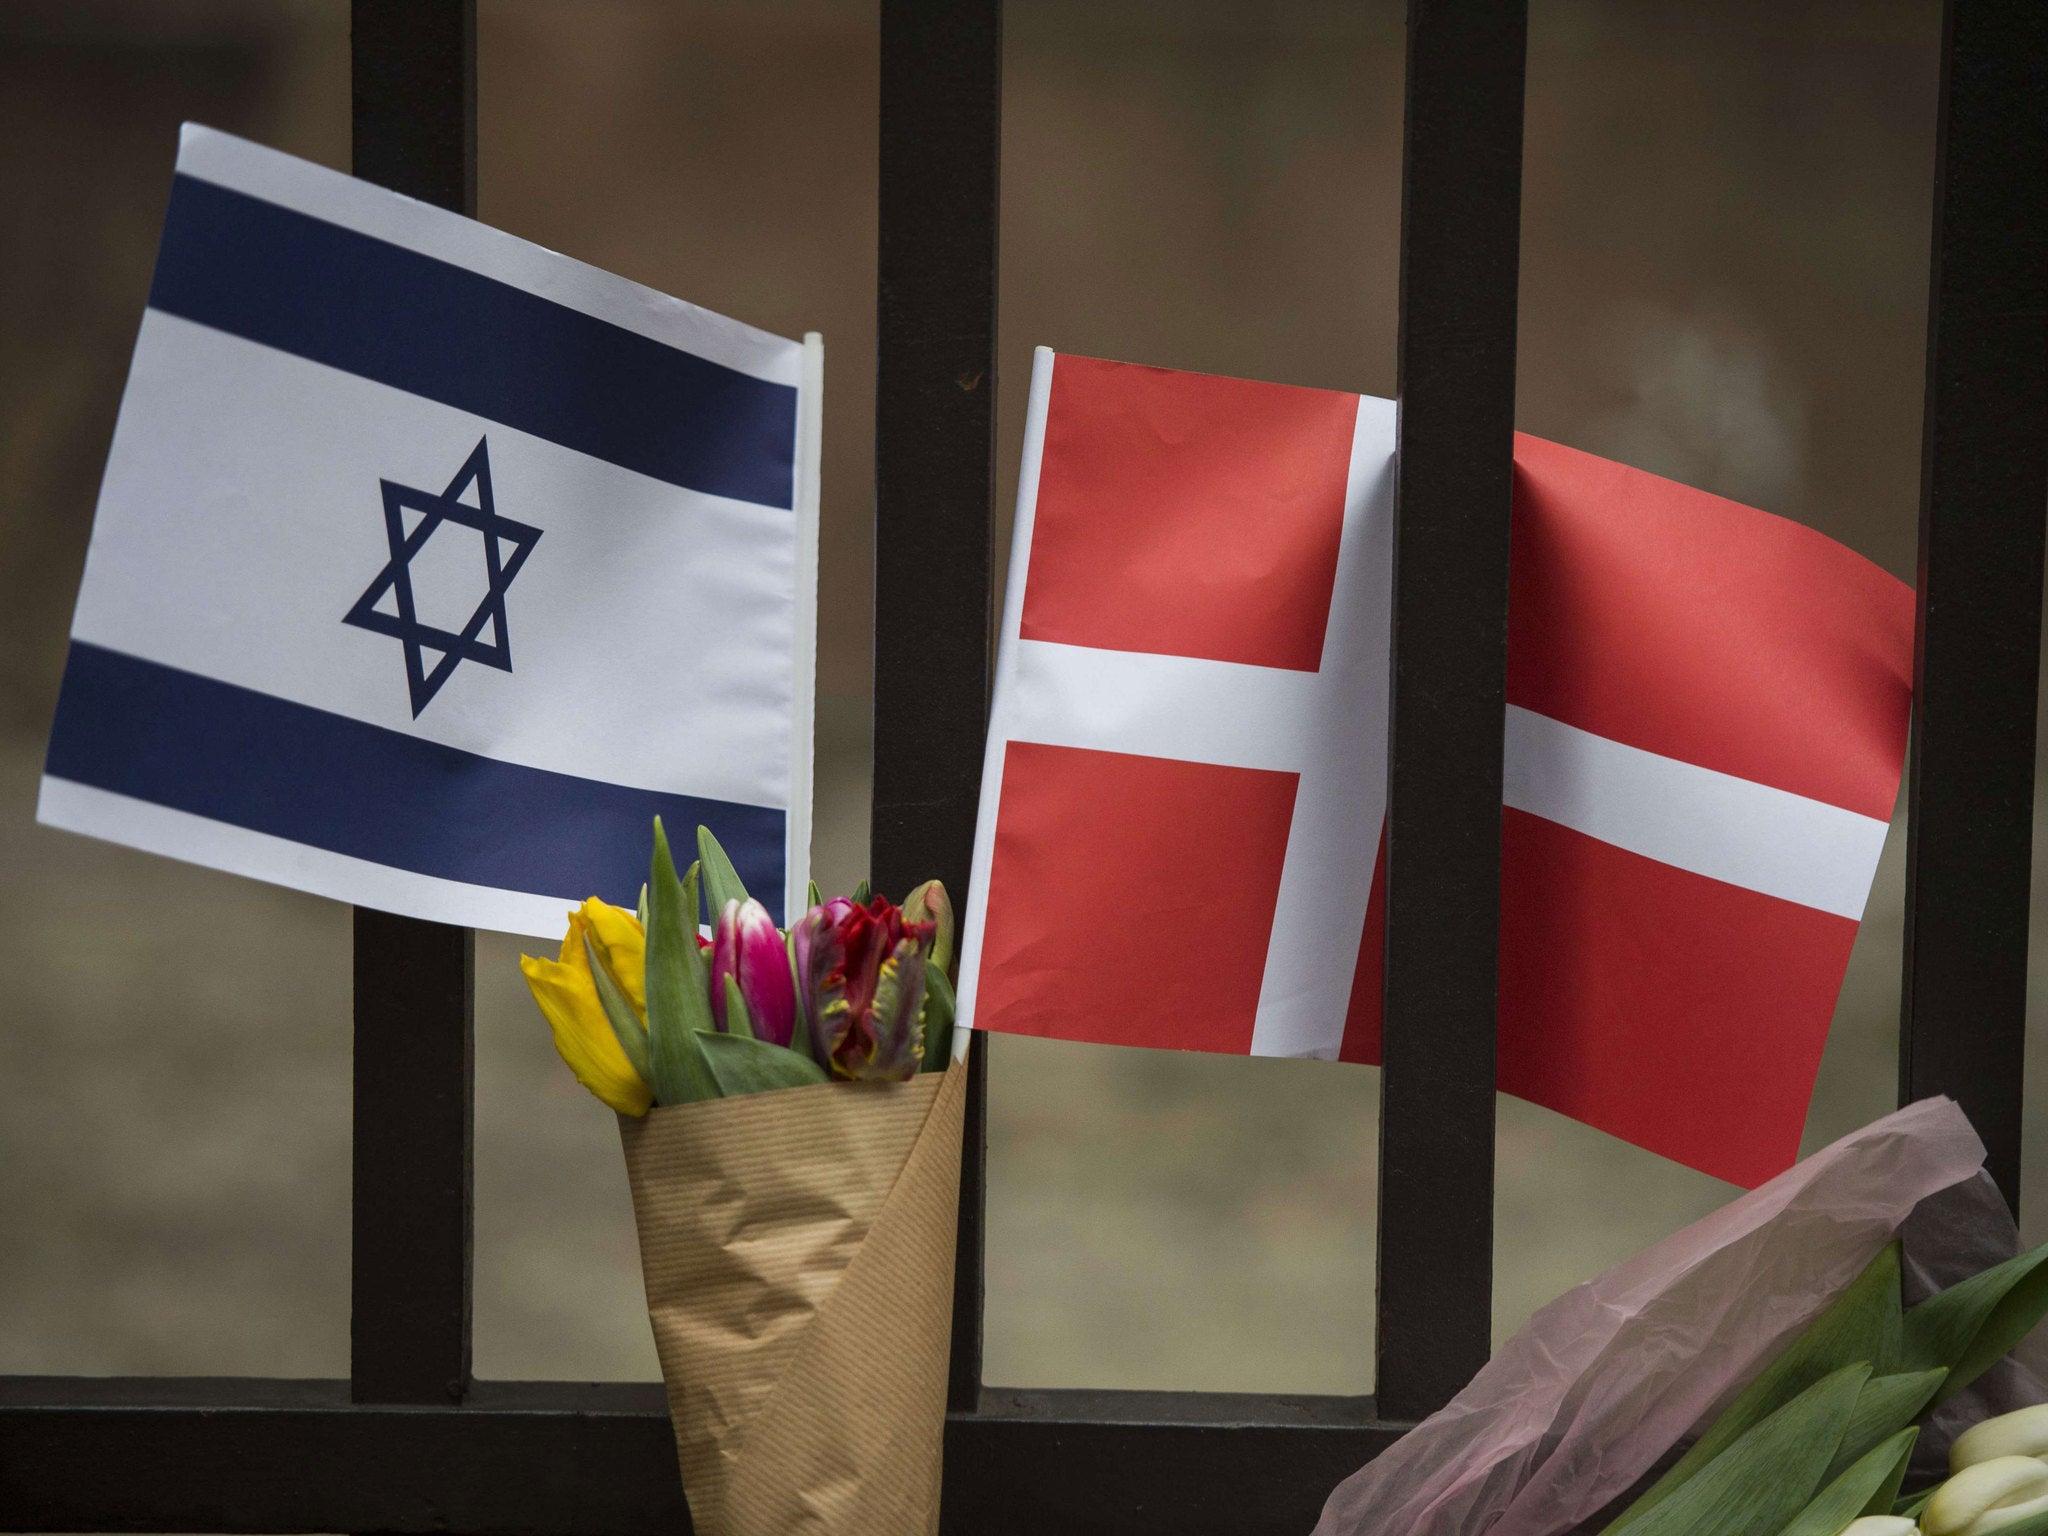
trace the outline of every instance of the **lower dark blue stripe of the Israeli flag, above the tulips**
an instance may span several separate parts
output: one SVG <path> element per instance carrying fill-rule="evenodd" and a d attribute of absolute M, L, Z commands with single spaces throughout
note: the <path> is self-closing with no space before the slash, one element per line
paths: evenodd
<path fill-rule="evenodd" d="M 444 881 L 623 907 L 653 817 L 698 823 L 782 922 L 782 811 L 522 768 L 72 641 L 45 772 Z"/>

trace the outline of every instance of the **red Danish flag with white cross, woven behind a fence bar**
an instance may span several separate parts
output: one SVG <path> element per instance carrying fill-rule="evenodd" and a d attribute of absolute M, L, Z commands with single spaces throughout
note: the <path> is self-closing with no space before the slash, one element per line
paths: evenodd
<path fill-rule="evenodd" d="M 1395 406 L 1032 369 L 961 1018 L 1378 1061 Z M 1798 1155 L 1905 762 L 1913 594 L 1516 436 L 1499 1087 Z"/>

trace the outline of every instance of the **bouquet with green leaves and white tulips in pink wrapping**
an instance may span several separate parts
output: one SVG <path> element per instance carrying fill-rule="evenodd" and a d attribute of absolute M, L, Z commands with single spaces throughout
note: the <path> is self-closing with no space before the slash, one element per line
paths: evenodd
<path fill-rule="evenodd" d="M 2048 1245 L 1982 1159 L 1925 1100 L 1569 1290 L 1317 1536 L 2048 1536 Z"/>

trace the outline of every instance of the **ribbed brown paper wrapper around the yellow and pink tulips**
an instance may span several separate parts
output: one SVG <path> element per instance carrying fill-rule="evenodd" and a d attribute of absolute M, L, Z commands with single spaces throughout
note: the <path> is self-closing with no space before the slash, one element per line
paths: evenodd
<path fill-rule="evenodd" d="M 967 1063 L 621 1118 L 702 1536 L 938 1530 Z"/>

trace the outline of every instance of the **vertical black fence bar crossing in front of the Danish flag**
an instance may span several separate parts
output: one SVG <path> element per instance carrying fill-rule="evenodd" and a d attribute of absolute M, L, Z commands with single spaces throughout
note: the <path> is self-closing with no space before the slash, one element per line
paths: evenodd
<path fill-rule="evenodd" d="M 1491 1348 L 1524 0 L 1411 0 L 1401 170 L 1378 1405 Z"/>

